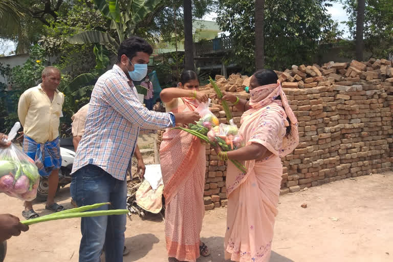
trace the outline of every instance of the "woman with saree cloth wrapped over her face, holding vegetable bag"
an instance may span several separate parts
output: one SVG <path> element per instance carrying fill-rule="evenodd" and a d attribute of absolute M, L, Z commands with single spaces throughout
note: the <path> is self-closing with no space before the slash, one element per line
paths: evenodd
<path fill-rule="evenodd" d="M 274 71 L 257 71 L 250 79 L 250 94 L 250 101 L 228 93 L 223 97 L 245 112 L 239 134 L 246 146 L 215 150 L 222 159 L 244 161 L 248 170 L 242 173 L 228 164 L 225 258 L 265 262 L 270 258 L 277 214 L 281 157 L 295 149 L 299 138 L 297 119 Z"/>

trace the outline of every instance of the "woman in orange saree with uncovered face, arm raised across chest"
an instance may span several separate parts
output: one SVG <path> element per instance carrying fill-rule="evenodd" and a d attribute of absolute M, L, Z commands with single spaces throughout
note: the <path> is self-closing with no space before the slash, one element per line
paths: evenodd
<path fill-rule="evenodd" d="M 208 96 L 197 92 L 199 80 L 193 71 L 184 71 L 179 88 L 164 89 L 161 100 L 167 112 L 194 111 Z M 196 261 L 209 250 L 200 242 L 205 213 L 203 192 L 206 171 L 205 145 L 193 135 L 167 129 L 160 146 L 164 182 L 165 236 L 168 257 L 178 261 Z"/>

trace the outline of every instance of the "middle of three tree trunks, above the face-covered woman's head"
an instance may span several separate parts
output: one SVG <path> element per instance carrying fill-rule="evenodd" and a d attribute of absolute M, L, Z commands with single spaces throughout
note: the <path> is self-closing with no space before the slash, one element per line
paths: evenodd
<path fill-rule="evenodd" d="M 255 69 L 265 67 L 265 0 L 255 0 Z"/>

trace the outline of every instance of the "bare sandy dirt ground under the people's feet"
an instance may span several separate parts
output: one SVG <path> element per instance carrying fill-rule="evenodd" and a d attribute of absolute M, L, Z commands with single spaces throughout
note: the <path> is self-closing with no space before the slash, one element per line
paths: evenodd
<path fill-rule="evenodd" d="M 71 208 L 69 188 L 58 202 Z M 21 217 L 22 202 L 0 194 L 1 212 Z M 307 208 L 300 206 L 305 203 Z M 34 205 L 43 215 L 43 203 Z M 393 172 L 333 182 L 280 197 L 271 262 L 393 261 Z M 201 233 L 211 256 L 223 262 L 226 209 L 206 212 Z M 164 223 L 158 216 L 127 222 L 123 261 L 167 261 Z M 79 219 L 32 225 L 8 241 L 6 262 L 78 261 Z"/>

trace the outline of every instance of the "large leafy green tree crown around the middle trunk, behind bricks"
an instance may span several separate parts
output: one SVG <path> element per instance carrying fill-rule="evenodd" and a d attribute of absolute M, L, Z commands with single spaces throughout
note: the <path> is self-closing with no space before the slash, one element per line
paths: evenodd
<path fill-rule="evenodd" d="M 255 1 L 223 0 L 217 23 L 230 32 L 234 50 L 227 62 L 241 65 L 244 73 L 255 66 Z M 329 30 L 332 20 L 324 0 L 265 1 L 265 62 L 267 67 L 284 69 L 310 61 L 317 51 L 317 40 Z"/>

